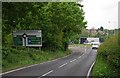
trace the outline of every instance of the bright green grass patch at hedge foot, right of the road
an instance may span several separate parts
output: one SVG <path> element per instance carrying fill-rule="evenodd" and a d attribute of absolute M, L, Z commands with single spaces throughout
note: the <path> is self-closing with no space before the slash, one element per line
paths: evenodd
<path fill-rule="evenodd" d="M 102 57 L 97 57 L 96 63 L 92 70 L 93 77 L 113 77 L 118 76 L 118 69 L 114 68 L 108 61 Z"/>

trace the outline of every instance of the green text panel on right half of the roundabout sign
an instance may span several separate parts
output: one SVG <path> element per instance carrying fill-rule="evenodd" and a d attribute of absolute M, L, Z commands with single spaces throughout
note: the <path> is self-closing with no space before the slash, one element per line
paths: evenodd
<path fill-rule="evenodd" d="M 36 36 L 28 36 L 28 45 L 41 45 L 41 37 L 36 37 Z"/>

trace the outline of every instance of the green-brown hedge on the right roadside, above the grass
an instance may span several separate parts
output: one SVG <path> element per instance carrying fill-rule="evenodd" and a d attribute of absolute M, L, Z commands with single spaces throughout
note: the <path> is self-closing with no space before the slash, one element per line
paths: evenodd
<path fill-rule="evenodd" d="M 120 33 L 119 33 L 120 35 Z M 111 64 L 120 67 L 118 60 L 120 59 L 120 46 L 118 45 L 118 35 L 107 39 L 98 49 L 98 56 L 104 57 Z"/>

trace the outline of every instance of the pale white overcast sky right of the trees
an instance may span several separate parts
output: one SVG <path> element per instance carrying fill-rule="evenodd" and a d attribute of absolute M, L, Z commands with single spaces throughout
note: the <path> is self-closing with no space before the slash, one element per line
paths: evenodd
<path fill-rule="evenodd" d="M 83 0 L 87 29 L 118 28 L 118 2 L 120 0 Z"/>

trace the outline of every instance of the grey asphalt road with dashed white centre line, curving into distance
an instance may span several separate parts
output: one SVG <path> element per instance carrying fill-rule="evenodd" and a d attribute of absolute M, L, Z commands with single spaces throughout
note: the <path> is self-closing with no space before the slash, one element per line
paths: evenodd
<path fill-rule="evenodd" d="M 70 47 L 72 54 L 53 61 L 44 62 L 18 71 L 3 74 L 2 78 L 56 78 L 86 77 L 95 61 L 96 50 L 91 47 Z"/>

